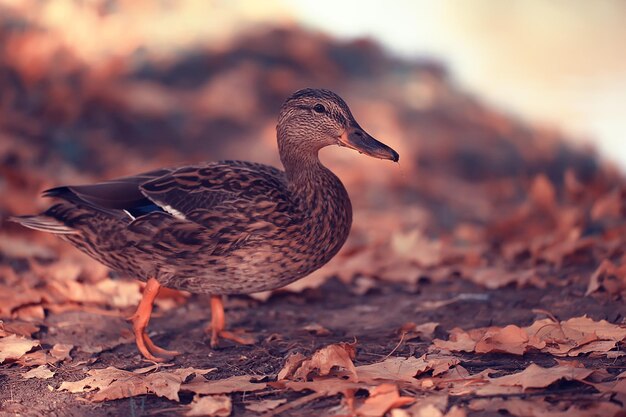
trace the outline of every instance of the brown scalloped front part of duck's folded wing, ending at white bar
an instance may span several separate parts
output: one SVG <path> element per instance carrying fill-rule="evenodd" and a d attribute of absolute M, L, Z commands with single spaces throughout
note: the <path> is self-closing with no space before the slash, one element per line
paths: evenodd
<path fill-rule="evenodd" d="M 270 214 L 286 215 L 291 204 L 284 172 L 242 161 L 179 168 L 139 189 L 172 216 L 207 227 L 235 218 L 252 225 Z"/>

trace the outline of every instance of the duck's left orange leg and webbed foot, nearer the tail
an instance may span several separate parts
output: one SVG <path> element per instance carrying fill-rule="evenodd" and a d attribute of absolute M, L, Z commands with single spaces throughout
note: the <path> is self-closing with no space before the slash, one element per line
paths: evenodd
<path fill-rule="evenodd" d="M 152 314 L 152 305 L 154 299 L 159 294 L 160 288 L 161 284 L 159 284 L 156 279 L 150 278 L 143 290 L 143 297 L 139 302 L 137 311 L 128 318 L 133 322 L 133 332 L 135 333 L 137 349 L 139 349 L 139 352 L 141 352 L 144 358 L 153 362 L 165 362 L 178 355 L 176 351 L 166 350 L 155 345 L 146 332 L 146 327 L 148 327 L 150 315 Z"/>

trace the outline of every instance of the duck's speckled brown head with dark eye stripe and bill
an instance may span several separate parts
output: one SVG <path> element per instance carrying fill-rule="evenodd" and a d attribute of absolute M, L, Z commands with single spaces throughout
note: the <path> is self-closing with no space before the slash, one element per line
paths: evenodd
<path fill-rule="evenodd" d="M 374 158 L 400 159 L 396 151 L 363 130 L 346 102 L 329 90 L 296 91 L 280 110 L 277 130 L 281 154 L 287 147 L 317 154 L 325 146 L 339 145 Z"/>

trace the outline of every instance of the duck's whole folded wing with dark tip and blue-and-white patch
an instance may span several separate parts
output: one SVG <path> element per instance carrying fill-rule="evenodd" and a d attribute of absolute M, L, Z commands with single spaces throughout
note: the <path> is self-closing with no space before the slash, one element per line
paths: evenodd
<path fill-rule="evenodd" d="M 254 230 L 268 226 L 268 221 L 286 224 L 292 207 L 284 172 L 242 161 L 159 169 L 96 184 L 57 187 L 45 191 L 44 196 L 71 205 L 54 206 L 46 216 L 27 220 L 42 223 L 41 219 L 52 217 L 70 227 L 65 233 L 75 232 L 74 225 L 89 211 L 140 232 L 170 227 L 175 220 L 178 229 L 191 223 L 189 227 L 195 224 L 210 229 L 207 232 L 221 233 L 235 225 Z M 19 221 L 25 224 L 25 219 Z M 35 228 L 30 223 L 26 226 Z M 37 228 L 52 231 L 50 225 Z"/>

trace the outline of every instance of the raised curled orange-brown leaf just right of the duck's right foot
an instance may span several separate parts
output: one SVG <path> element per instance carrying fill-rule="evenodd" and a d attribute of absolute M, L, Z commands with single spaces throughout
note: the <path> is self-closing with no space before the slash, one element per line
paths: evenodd
<path fill-rule="evenodd" d="M 325 346 L 317 350 L 310 359 L 303 360 L 300 364 L 300 356 L 291 356 L 283 369 L 279 372 L 279 379 L 303 380 L 309 379 L 311 374 L 327 376 L 335 367 L 344 369 L 348 379 L 356 381 L 357 373 L 352 360 L 355 356 L 353 344 L 337 343 Z"/>

